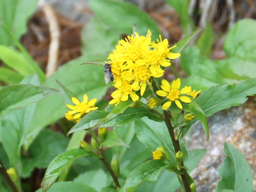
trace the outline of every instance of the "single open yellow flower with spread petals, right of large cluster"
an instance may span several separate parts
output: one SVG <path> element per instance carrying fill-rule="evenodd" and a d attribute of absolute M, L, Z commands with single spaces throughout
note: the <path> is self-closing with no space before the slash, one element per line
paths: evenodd
<path fill-rule="evenodd" d="M 178 78 L 177 80 L 174 80 L 171 85 L 165 79 L 162 80 L 162 85 L 161 85 L 162 90 L 156 91 L 156 94 L 158 94 L 161 97 L 166 97 L 167 99 L 169 99 L 169 101 L 165 102 L 164 105 L 162 106 L 163 110 L 168 109 L 171 106 L 172 101 L 174 101 L 177 107 L 179 107 L 180 109 L 182 109 L 182 105 L 179 100 L 185 103 L 191 102 L 191 99 L 189 97 L 180 95 L 180 94 L 189 94 L 189 90 L 191 90 L 191 87 L 184 87 L 180 91 L 179 91 L 179 88 L 180 88 L 180 78 Z"/>

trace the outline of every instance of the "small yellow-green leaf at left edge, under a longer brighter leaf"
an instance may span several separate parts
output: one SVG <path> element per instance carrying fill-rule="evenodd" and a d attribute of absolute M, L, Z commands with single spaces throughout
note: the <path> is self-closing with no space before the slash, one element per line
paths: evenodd
<path fill-rule="evenodd" d="M 0 81 L 7 84 L 18 84 L 24 78 L 23 75 L 7 68 L 0 68 Z"/>

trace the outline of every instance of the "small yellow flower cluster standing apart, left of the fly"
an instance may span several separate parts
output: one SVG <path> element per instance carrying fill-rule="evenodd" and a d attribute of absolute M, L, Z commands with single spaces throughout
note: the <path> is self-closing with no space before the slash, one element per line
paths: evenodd
<path fill-rule="evenodd" d="M 97 99 L 94 98 L 91 101 L 88 101 L 88 97 L 86 94 L 84 94 L 82 102 L 80 102 L 75 97 L 71 98 L 71 100 L 75 104 L 75 106 L 69 104 L 66 105 L 71 110 L 68 110 L 68 112 L 65 113 L 65 117 L 69 121 L 75 121 L 77 123 L 85 114 L 89 113 L 92 110 L 98 109 L 98 107 L 95 107 L 95 102 L 97 101 Z"/>

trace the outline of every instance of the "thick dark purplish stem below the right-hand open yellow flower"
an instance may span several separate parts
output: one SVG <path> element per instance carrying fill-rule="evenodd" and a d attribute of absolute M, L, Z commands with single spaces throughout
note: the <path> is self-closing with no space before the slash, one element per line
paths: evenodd
<path fill-rule="evenodd" d="M 180 151 L 179 140 L 175 140 L 174 132 L 173 132 L 173 127 L 172 127 L 172 124 L 171 124 L 168 112 L 163 110 L 163 113 L 164 113 L 164 121 L 165 121 L 167 129 L 169 131 L 170 137 L 172 139 L 172 143 L 173 143 L 173 146 L 174 146 L 175 153 L 177 153 L 178 151 Z M 180 165 L 184 166 L 183 161 L 180 162 Z M 190 186 L 189 186 L 189 182 L 188 182 L 188 177 L 187 177 L 187 171 L 185 169 L 183 169 L 183 168 L 181 169 L 181 171 L 184 172 L 183 174 L 181 174 L 181 179 L 183 181 L 183 184 L 184 184 L 184 187 L 186 189 L 186 192 L 191 192 L 191 189 L 190 189 Z"/>

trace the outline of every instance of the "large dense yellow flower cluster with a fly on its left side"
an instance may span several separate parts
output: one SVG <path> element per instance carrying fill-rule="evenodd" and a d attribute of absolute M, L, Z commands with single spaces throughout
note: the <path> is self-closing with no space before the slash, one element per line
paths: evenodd
<path fill-rule="evenodd" d="M 163 67 L 171 65 L 170 59 L 177 59 L 180 53 L 170 52 L 175 46 L 169 48 L 167 39 L 162 41 L 161 36 L 157 43 L 151 41 L 151 32 L 146 36 L 138 33 L 121 39 L 116 49 L 109 54 L 109 64 L 114 76 L 114 98 L 109 103 L 118 105 L 120 101 L 139 100 L 136 94 L 140 90 L 142 96 L 149 84 L 150 77 L 162 77 Z"/>

